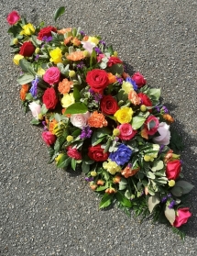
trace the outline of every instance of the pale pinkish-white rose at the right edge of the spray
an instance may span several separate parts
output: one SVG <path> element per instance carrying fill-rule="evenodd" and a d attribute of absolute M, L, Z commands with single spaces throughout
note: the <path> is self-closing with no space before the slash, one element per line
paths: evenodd
<path fill-rule="evenodd" d="M 159 124 L 159 134 L 160 136 L 153 138 L 153 141 L 155 143 L 158 143 L 159 145 L 169 145 L 170 143 L 170 126 L 167 125 L 165 122 L 161 122 Z"/>

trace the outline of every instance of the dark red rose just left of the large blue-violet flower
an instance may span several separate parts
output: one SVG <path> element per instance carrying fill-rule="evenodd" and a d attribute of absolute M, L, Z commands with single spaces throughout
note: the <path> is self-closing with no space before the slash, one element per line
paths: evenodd
<path fill-rule="evenodd" d="M 104 149 L 101 148 L 101 145 L 98 144 L 93 147 L 89 147 L 88 156 L 93 161 L 106 161 L 109 156 L 109 152 L 104 153 Z"/>

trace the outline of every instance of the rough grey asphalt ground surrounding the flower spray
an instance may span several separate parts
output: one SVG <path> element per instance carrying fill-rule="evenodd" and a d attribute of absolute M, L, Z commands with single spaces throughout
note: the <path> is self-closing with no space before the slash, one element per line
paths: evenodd
<path fill-rule="evenodd" d="M 128 218 L 99 200 L 79 173 L 47 164 L 41 128 L 24 114 L 5 17 L 16 9 L 38 24 L 81 27 L 113 44 L 130 72 L 140 71 L 176 119 L 192 218 L 185 242 L 165 225 Z M 1 0 L 0 2 L 0 255 L 161 256 L 197 255 L 197 2 L 195 0 Z"/>

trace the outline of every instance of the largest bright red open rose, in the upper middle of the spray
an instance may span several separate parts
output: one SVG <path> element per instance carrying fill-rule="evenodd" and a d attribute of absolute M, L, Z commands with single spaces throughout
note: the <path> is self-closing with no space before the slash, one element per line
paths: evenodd
<path fill-rule="evenodd" d="M 87 72 L 86 82 L 91 86 L 93 92 L 102 93 L 109 84 L 108 74 L 104 70 L 93 70 Z"/>

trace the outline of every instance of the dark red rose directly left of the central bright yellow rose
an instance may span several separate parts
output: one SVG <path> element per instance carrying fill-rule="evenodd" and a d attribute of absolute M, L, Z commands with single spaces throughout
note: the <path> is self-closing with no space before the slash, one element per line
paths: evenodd
<path fill-rule="evenodd" d="M 114 115 L 119 109 L 115 98 L 111 95 L 106 95 L 101 100 L 101 110 L 104 115 Z"/>

